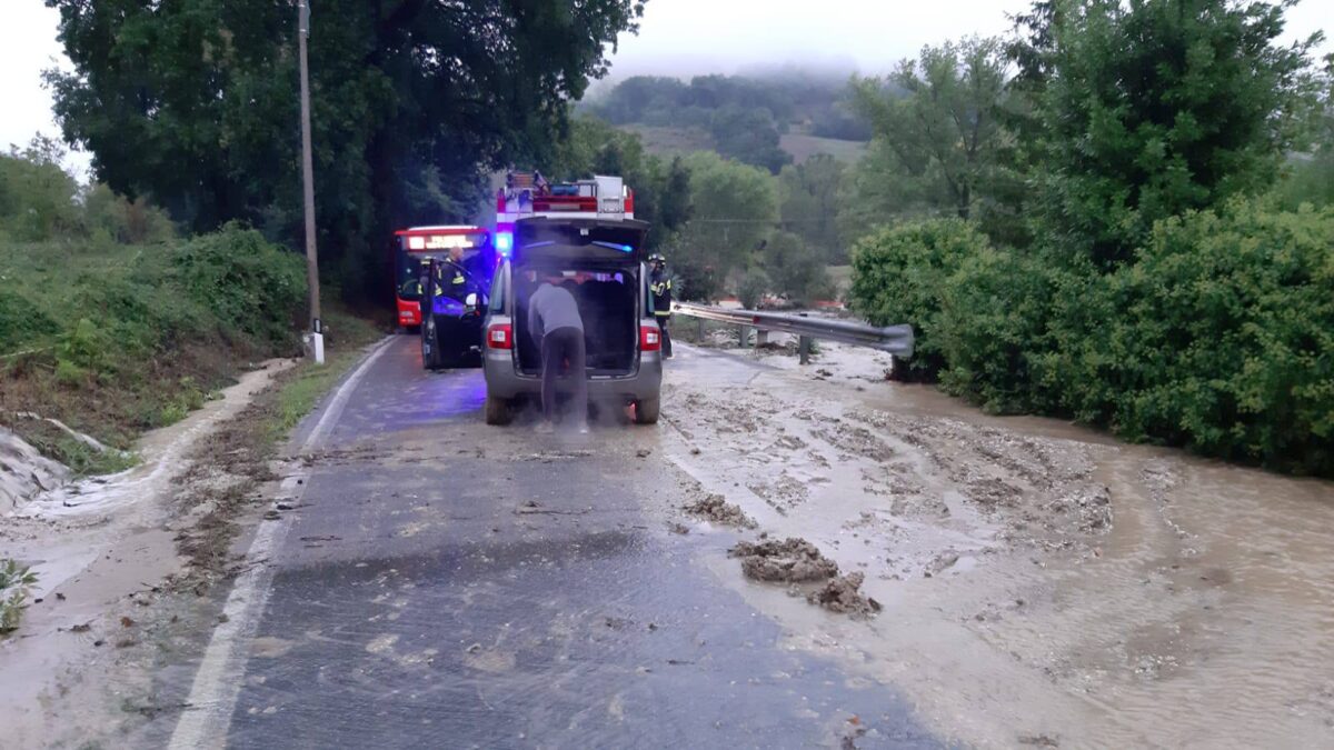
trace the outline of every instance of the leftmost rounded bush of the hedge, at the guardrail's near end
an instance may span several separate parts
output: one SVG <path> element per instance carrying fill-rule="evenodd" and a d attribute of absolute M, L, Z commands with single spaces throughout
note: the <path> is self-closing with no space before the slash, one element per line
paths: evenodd
<path fill-rule="evenodd" d="M 912 324 L 911 376 L 935 379 L 944 368 L 939 330 L 946 283 L 986 247 L 986 236 L 959 219 L 884 228 L 854 246 L 848 300 L 875 326 Z"/>

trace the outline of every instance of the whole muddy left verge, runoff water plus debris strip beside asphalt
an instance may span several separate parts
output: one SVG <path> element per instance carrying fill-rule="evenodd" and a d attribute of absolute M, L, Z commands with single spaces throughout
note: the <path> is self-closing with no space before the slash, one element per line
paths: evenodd
<path fill-rule="evenodd" d="M 280 468 L 259 399 L 292 364 L 264 363 L 147 434 L 140 463 L 121 474 L 71 480 L 7 436 L 0 556 L 31 566 L 37 583 L 21 627 L 0 641 L 0 745 L 115 745 L 179 709 L 156 701 L 151 665 L 207 633 L 200 617 L 215 617 L 205 594 L 239 565 L 235 520 L 267 502 L 261 483 Z"/>

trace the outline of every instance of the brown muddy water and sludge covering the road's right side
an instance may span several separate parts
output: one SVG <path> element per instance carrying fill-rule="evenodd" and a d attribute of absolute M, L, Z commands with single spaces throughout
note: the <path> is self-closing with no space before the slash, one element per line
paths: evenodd
<path fill-rule="evenodd" d="M 680 466 L 866 573 L 886 611 L 850 622 L 734 560 L 719 575 L 944 735 L 1334 746 L 1330 483 L 988 418 L 838 347 L 804 371 L 679 359 Z"/>

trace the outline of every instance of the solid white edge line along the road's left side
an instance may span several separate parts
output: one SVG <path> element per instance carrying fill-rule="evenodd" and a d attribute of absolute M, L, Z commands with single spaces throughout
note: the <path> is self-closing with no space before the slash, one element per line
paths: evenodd
<path fill-rule="evenodd" d="M 362 382 L 362 378 L 371 368 L 371 364 L 388 348 L 394 339 L 382 342 L 358 366 L 356 371 L 343 382 L 334 400 L 329 402 L 320 420 L 311 430 L 301 443 L 301 452 L 307 452 L 328 436 L 343 415 L 352 391 Z M 309 472 L 293 474 L 283 480 L 283 494 L 295 496 L 299 504 L 305 488 Z M 249 550 L 247 559 L 268 559 L 287 538 L 291 522 L 287 516 L 279 520 L 263 522 Z M 264 613 L 268 602 L 269 585 L 273 579 L 271 565 L 253 565 L 236 578 L 232 593 L 223 606 L 225 621 L 213 629 L 213 637 L 208 641 L 208 650 L 195 673 L 195 682 L 189 689 L 185 705 L 189 706 L 181 713 L 176 722 L 176 730 L 171 735 L 171 750 L 200 750 L 204 747 L 223 747 L 227 741 L 227 730 L 232 722 L 232 711 L 236 709 L 236 699 L 240 697 L 241 671 L 245 666 L 243 645 L 255 635 L 259 627 L 259 618 Z"/>

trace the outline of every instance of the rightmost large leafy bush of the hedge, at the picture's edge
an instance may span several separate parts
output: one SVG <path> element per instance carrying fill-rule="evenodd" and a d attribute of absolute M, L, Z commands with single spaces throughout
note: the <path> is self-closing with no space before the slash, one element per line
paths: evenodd
<path fill-rule="evenodd" d="M 1107 284 L 1114 364 L 1078 390 L 1118 434 L 1334 474 L 1334 210 L 1170 219 Z"/>

